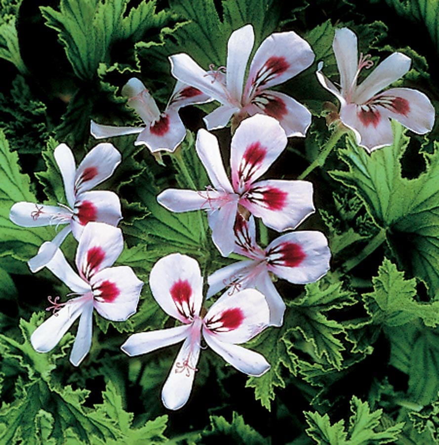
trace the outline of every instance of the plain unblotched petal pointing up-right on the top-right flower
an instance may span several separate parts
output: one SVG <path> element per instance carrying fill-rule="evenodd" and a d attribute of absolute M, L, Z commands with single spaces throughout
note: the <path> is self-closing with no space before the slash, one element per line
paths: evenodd
<path fill-rule="evenodd" d="M 401 78 L 410 69 L 411 59 L 400 52 L 394 52 L 384 59 L 358 86 L 352 101 L 363 104 L 377 92 Z"/>

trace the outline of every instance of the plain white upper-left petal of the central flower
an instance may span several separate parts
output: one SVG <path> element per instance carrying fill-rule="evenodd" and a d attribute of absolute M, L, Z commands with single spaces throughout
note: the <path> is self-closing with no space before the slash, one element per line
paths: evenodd
<path fill-rule="evenodd" d="M 197 134 L 195 146 L 200 161 L 212 182 L 213 188 L 233 193 L 232 185 L 224 170 L 218 139 L 213 134 L 201 129 Z"/>

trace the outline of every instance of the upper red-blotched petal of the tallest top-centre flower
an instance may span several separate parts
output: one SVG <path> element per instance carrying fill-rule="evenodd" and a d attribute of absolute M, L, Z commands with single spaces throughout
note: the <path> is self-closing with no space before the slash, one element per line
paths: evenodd
<path fill-rule="evenodd" d="M 256 51 L 244 90 L 244 103 L 262 89 L 279 85 L 314 61 L 311 46 L 295 32 L 275 33 Z"/>

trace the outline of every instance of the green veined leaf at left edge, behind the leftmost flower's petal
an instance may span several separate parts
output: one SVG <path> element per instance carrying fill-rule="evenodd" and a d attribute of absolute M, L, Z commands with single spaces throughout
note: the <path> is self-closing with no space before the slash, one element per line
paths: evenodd
<path fill-rule="evenodd" d="M 10 151 L 0 131 L 0 267 L 7 272 L 27 273 L 25 262 L 53 235 L 47 227 L 20 227 L 12 223 L 9 211 L 19 201 L 38 202 L 29 177 L 20 173 L 17 154 Z"/>

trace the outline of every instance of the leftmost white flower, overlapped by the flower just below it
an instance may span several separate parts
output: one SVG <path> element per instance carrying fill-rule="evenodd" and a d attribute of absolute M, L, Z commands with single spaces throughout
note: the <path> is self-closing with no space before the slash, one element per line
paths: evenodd
<path fill-rule="evenodd" d="M 55 254 L 66 236 L 73 232 L 79 240 L 82 230 L 89 221 L 118 225 L 122 218 L 118 195 L 111 191 L 89 191 L 95 185 L 109 178 L 120 164 L 120 153 L 112 144 L 101 143 L 87 153 L 78 169 L 72 150 L 60 144 L 53 152 L 64 182 L 68 206 L 46 206 L 32 202 L 18 202 L 9 213 L 10 220 L 23 227 L 68 224 L 53 238 L 44 243 L 38 255 L 28 262 L 30 269 L 37 272 Z"/>

